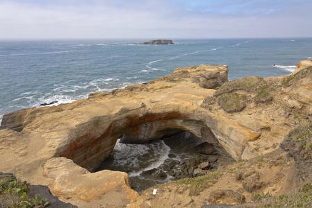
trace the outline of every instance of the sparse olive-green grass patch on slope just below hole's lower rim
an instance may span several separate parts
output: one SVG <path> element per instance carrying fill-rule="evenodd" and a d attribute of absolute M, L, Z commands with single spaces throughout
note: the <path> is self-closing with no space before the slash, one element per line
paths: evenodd
<path fill-rule="evenodd" d="M 181 180 L 174 180 L 170 183 L 172 184 L 187 184 L 190 189 L 190 196 L 198 196 L 199 193 L 211 187 L 211 184 L 214 184 L 219 177 L 220 173 L 211 173 L 208 175 L 202 175 L 199 177 L 186 177 Z"/>

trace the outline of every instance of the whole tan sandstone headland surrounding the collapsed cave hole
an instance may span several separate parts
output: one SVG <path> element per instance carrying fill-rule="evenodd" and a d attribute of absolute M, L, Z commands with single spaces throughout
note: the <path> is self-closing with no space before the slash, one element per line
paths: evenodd
<path fill-rule="evenodd" d="M 78 207 L 235 205 L 256 196 L 285 197 L 311 183 L 311 150 L 302 148 L 308 136 L 295 128 L 311 119 L 312 60 L 270 78 L 229 82 L 228 71 L 226 65 L 178 68 L 146 84 L 6 114 L 0 171 L 48 186 Z M 120 136 L 142 144 L 183 131 L 202 139 L 207 154 L 223 152 L 236 162 L 140 194 L 124 172 L 94 172 Z"/>

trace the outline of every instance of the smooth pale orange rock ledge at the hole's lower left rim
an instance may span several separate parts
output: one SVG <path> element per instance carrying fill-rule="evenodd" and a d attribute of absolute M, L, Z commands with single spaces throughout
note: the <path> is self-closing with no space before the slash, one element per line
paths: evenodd
<path fill-rule="evenodd" d="M 54 179 L 51 193 L 61 198 L 84 202 L 101 200 L 109 207 L 122 207 L 138 196 L 129 186 L 128 175 L 123 172 L 90 173 L 65 157 L 49 159 L 43 169 L 44 175 Z"/>

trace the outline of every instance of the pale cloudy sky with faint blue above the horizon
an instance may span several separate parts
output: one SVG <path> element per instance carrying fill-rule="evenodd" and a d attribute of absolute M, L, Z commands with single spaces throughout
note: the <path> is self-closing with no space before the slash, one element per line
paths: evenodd
<path fill-rule="evenodd" d="M 0 38 L 312 37 L 312 0 L 0 0 Z"/>

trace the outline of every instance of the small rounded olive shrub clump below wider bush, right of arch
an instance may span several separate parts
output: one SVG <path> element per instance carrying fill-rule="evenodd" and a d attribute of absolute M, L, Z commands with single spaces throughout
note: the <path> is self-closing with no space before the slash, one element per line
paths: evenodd
<path fill-rule="evenodd" d="M 238 93 L 223 94 L 217 98 L 217 103 L 226 112 L 240 112 L 246 107 L 247 96 Z"/>

